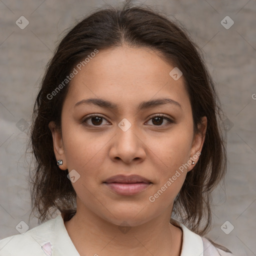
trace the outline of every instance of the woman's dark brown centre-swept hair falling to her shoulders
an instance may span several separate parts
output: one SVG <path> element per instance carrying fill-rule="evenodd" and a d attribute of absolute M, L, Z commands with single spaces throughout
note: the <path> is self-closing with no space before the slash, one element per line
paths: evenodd
<path fill-rule="evenodd" d="M 179 22 L 144 5 L 97 9 L 68 30 L 48 62 L 33 108 L 30 142 L 35 167 L 30 168 L 32 212 L 38 219 L 49 219 L 58 209 L 64 220 L 76 212 L 75 191 L 67 178 L 68 170 L 56 165 L 48 123 L 53 120 L 61 130 L 61 109 L 68 83 L 49 99 L 50 93 L 66 78 L 74 66 L 94 49 L 121 46 L 148 47 L 183 73 L 192 107 L 194 132 L 201 117 L 207 117 L 207 129 L 201 155 L 175 198 L 173 214 L 197 234 L 206 233 L 211 223 L 211 191 L 226 170 L 225 139 L 221 134 L 222 111 L 213 81 L 201 50 Z M 29 143 L 30 144 L 30 143 Z M 202 220 L 205 223 L 202 225 Z"/>

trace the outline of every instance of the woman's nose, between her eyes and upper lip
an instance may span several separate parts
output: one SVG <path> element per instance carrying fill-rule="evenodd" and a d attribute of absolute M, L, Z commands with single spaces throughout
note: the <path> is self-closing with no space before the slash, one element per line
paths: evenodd
<path fill-rule="evenodd" d="M 131 124 L 128 129 L 123 129 L 122 126 L 116 127 L 116 135 L 109 150 L 109 157 L 113 161 L 122 160 L 127 164 L 143 161 L 146 157 L 145 150 L 146 145 L 135 124 Z"/>

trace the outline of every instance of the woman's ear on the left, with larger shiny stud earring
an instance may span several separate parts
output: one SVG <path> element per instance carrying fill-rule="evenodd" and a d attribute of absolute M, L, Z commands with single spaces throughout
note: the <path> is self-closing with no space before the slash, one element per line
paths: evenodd
<path fill-rule="evenodd" d="M 63 141 L 62 141 L 62 135 L 61 131 L 56 128 L 56 125 L 54 121 L 50 121 L 48 124 L 48 127 L 51 131 L 52 135 L 52 140 L 53 140 L 53 149 L 56 157 L 56 162 L 57 160 L 62 160 L 62 165 L 59 165 L 58 167 L 62 170 L 67 169 L 66 165 L 66 158 L 65 158 L 65 151 L 63 147 Z M 57 164 L 57 163 L 56 163 Z"/>

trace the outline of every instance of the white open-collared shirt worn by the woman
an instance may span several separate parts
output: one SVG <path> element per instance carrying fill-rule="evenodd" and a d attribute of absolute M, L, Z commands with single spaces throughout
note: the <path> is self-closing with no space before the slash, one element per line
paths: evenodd
<path fill-rule="evenodd" d="M 182 228 L 182 250 L 180 256 L 234 256 L 217 248 L 205 237 Z M 22 234 L 15 234 L 0 240 L 0 256 L 79 256 L 64 225 L 61 214 L 33 227 Z"/>

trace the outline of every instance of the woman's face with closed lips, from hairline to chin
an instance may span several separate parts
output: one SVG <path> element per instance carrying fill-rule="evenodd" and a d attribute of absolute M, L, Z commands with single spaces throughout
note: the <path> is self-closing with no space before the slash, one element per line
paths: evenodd
<path fill-rule="evenodd" d="M 72 171 L 77 214 L 131 226 L 161 214 L 169 220 L 204 141 L 193 132 L 184 78 L 174 80 L 173 68 L 149 48 L 123 45 L 99 50 L 70 81 L 62 132 L 53 122 L 49 128 L 59 167 Z M 205 132 L 206 117 L 198 128 Z M 115 175 L 124 178 L 109 179 Z"/>

